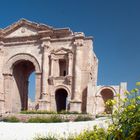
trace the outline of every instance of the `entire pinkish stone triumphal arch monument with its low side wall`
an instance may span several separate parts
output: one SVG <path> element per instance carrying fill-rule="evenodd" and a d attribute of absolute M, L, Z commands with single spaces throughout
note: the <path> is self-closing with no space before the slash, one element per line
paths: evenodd
<path fill-rule="evenodd" d="M 97 86 L 92 37 L 25 19 L 0 30 L 0 112 L 30 109 L 28 80 L 35 72 L 34 110 L 102 113 L 126 83 Z M 123 94 L 121 94 L 123 96 Z"/>

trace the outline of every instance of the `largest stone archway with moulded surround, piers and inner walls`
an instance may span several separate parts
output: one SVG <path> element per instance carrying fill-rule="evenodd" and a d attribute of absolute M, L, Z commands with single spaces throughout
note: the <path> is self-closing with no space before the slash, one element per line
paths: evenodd
<path fill-rule="evenodd" d="M 41 93 L 41 71 L 38 61 L 29 54 L 17 54 L 7 61 L 3 72 L 7 112 L 28 109 L 28 79 L 32 72 L 36 73 L 35 102 L 37 103 Z"/>

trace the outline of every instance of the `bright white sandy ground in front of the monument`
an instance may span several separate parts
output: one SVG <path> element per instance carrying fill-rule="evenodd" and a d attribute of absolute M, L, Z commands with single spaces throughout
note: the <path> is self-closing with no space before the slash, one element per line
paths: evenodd
<path fill-rule="evenodd" d="M 65 123 L 6 123 L 0 122 L 0 140 L 33 140 L 36 136 L 67 137 L 90 130 L 94 125 L 107 127 L 105 119 Z"/>

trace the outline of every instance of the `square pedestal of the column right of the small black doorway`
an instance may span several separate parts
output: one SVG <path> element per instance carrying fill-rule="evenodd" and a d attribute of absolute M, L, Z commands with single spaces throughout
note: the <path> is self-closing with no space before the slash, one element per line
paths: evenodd
<path fill-rule="evenodd" d="M 81 113 L 81 105 L 82 105 L 82 101 L 80 100 L 70 101 L 70 111 Z"/>

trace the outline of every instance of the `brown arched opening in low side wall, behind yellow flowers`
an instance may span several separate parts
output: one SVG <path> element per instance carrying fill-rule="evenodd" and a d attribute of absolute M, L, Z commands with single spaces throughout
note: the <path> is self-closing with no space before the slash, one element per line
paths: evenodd
<path fill-rule="evenodd" d="M 107 107 L 106 102 L 109 99 L 113 99 L 113 97 L 114 97 L 113 91 L 111 89 L 106 88 L 106 89 L 103 89 L 100 92 L 100 94 L 101 94 L 103 104 L 104 104 L 104 112 L 106 112 L 107 114 L 110 114 L 112 112 L 112 108 Z"/>

